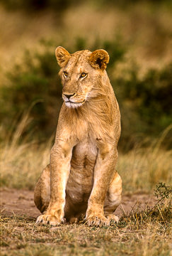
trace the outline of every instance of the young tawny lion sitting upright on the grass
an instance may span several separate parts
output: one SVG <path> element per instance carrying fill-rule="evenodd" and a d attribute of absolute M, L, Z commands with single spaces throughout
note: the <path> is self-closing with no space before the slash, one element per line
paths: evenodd
<path fill-rule="evenodd" d="M 62 98 L 50 164 L 35 186 L 42 215 L 37 223 L 59 225 L 85 216 L 89 226 L 110 225 L 121 202 L 122 179 L 115 170 L 120 110 L 106 73 L 105 50 L 55 50 Z"/>

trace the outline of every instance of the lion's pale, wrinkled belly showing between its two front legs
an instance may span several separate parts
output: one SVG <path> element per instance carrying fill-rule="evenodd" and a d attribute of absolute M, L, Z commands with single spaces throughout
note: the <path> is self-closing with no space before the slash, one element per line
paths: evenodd
<path fill-rule="evenodd" d="M 67 182 L 67 193 L 72 201 L 88 201 L 93 187 L 93 170 L 98 149 L 96 144 L 86 138 L 72 151 L 71 171 Z"/>

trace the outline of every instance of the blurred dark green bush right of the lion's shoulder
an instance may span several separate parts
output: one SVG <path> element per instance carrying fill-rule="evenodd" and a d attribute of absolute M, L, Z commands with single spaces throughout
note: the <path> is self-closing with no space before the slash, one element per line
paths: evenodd
<path fill-rule="evenodd" d="M 149 70 L 142 79 L 136 67 L 128 73 L 129 78 L 113 81 L 119 87 L 123 136 L 126 140 L 132 134 L 157 137 L 172 123 L 172 63 L 161 70 Z M 166 142 L 172 142 L 170 133 Z"/>

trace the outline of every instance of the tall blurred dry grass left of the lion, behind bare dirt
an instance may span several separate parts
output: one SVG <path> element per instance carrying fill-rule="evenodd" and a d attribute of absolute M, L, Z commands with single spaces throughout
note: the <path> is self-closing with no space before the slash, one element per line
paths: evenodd
<path fill-rule="evenodd" d="M 1 185 L 13 188 L 33 189 L 42 169 L 48 164 L 50 158 L 49 139 L 46 144 L 38 145 L 37 142 L 28 142 L 21 134 L 31 122 L 29 110 L 23 114 L 20 124 L 13 132 L 7 134 L 4 142 L 0 144 L 0 169 Z"/>

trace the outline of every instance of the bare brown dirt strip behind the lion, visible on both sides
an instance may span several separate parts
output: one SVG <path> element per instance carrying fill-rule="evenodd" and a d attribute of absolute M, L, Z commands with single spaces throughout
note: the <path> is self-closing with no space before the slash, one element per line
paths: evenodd
<path fill-rule="evenodd" d="M 0 200 L 0 211 L 7 216 L 18 215 L 33 219 L 40 215 L 33 201 L 33 191 L 1 188 Z M 116 215 L 120 217 L 124 211 L 130 213 L 137 203 L 142 209 L 147 205 L 152 207 L 156 198 L 146 193 L 124 195 L 121 205 L 115 211 Z"/>

